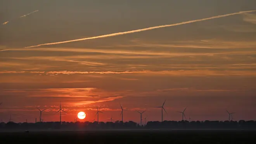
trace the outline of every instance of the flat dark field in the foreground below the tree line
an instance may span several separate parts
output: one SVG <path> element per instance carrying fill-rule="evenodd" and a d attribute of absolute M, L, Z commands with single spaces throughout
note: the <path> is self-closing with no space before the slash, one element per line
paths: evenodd
<path fill-rule="evenodd" d="M 253 144 L 256 131 L 76 131 L 1 132 L 1 144 Z"/>

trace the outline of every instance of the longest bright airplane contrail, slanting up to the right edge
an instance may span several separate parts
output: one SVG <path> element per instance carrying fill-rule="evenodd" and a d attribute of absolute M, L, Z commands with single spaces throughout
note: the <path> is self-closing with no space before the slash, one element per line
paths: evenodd
<path fill-rule="evenodd" d="M 90 38 L 74 39 L 74 40 L 61 41 L 61 42 L 55 42 L 55 43 L 45 43 L 45 44 L 40 44 L 40 45 L 35 45 L 35 46 L 27 46 L 25 48 L 32 48 L 32 47 L 43 46 L 43 45 L 57 45 L 57 44 L 61 44 L 61 43 L 70 43 L 70 42 L 74 42 L 74 41 L 83 41 L 83 40 L 87 40 L 87 39 L 106 38 L 106 37 L 118 36 L 118 35 L 123 35 L 123 34 L 137 33 L 137 32 L 140 32 L 140 31 L 147 31 L 147 30 L 158 29 L 158 28 L 162 28 L 162 27 L 178 26 L 178 25 L 182 25 L 182 24 L 189 24 L 189 23 L 198 22 L 198 21 L 206 21 L 206 20 L 209 20 L 209 19 L 227 17 L 227 16 L 230 16 L 230 15 L 242 14 L 242 13 L 247 13 L 247 12 L 256 12 L 256 10 L 241 11 L 241 12 L 235 12 L 235 13 L 232 13 L 232 14 L 217 15 L 217 16 L 208 17 L 208 18 L 204 18 L 204 19 L 197 19 L 197 20 L 192 20 L 192 21 L 180 22 L 180 23 L 176 23 L 176 24 L 168 24 L 168 25 L 147 27 L 147 28 L 144 28 L 144 29 L 137 29 L 137 30 L 119 32 L 119 33 L 105 34 L 105 35 L 101 35 L 101 36 L 93 36 L 93 37 L 90 37 Z"/>

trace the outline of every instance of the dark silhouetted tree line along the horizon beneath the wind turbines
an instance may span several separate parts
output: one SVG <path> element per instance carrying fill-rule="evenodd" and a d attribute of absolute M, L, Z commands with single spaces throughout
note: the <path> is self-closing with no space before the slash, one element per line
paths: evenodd
<path fill-rule="evenodd" d="M 37 123 L 0 123 L 0 129 L 69 129 L 69 130 L 95 130 L 95 129 L 256 129 L 256 121 L 163 121 L 147 122 L 139 125 L 136 122 L 37 122 Z"/>

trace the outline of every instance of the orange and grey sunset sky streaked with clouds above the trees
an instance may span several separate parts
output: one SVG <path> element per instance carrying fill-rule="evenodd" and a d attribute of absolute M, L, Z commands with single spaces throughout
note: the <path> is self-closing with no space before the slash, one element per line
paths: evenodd
<path fill-rule="evenodd" d="M 255 0 L 2 0 L 0 120 L 255 120 Z"/>

